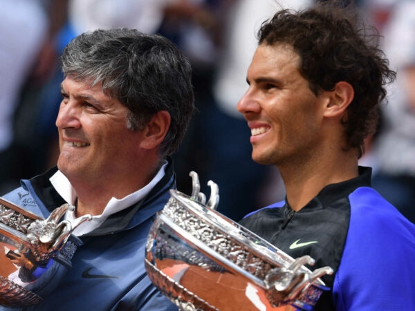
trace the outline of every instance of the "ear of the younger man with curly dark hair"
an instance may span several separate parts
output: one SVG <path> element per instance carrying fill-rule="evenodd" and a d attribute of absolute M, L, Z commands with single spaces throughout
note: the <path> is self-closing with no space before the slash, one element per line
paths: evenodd
<path fill-rule="evenodd" d="M 354 97 L 354 89 L 348 82 L 340 81 L 329 92 L 329 101 L 326 104 L 324 116 L 341 116 L 346 111 Z"/>

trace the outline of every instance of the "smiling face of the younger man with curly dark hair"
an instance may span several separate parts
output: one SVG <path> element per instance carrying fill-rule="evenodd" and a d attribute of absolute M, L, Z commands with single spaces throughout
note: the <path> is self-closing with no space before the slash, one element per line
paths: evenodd
<path fill-rule="evenodd" d="M 248 91 L 237 105 L 251 129 L 252 159 L 279 165 L 311 155 L 321 141 L 324 111 L 299 73 L 291 46 L 261 44 L 248 68 Z"/>

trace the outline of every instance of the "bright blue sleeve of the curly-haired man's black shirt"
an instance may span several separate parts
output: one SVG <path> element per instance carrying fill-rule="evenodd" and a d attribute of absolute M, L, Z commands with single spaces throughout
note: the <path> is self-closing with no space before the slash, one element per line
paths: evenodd
<path fill-rule="evenodd" d="M 336 310 L 415 310 L 415 225 L 373 189 L 350 196 L 351 218 L 335 276 Z"/>

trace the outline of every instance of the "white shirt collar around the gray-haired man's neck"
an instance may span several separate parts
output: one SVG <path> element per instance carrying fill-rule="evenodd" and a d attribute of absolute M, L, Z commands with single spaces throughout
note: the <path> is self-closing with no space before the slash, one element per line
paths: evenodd
<path fill-rule="evenodd" d="M 130 207 L 134 203 L 142 200 L 149 194 L 151 189 L 165 176 L 165 168 L 167 166 L 167 161 L 163 164 L 160 168 L 156 176 L 149 182 L 145 187 L 142 187 L 136 192 L 125 196 L 124 198 L 117 199 L 111 198 L 107 203 L 107 206 L 102 211 L 102 214 L 96 215 L 92 217 L 91 221 L 85 221 L 81 225 L 79 225 L 74 231 L 73 234 L 75 236 L 81 236 L 82 234 L 87 234 L 91 232 L 93 229 L 98 228 L 104 220 L 106 220 L 111 214 L 115 214 L 122 209 Z M 62 196 L 62 198 L 71 205 L 75 204 L 76 200 L 76 191 L 73 189 L 71 182 L 69 182 L 68 178 L 64 176 L 61 171 L 57 171 L 52 177 L 50 177 L 50 182 L 52 183 L 53 187 L 57 191 L 57 193 Z M 75 220 L 75 214 L 73 211 L 67 211 L 65 214 L 65 220 L 73 221 Z"/>

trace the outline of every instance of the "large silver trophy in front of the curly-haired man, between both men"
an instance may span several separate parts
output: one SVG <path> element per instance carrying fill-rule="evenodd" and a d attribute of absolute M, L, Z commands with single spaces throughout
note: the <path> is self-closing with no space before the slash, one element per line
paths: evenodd
<path fill-rule="evenodd" d="M 292 258 L 216 211 L 191 172 L 192 196 L 170 190 L 147 238 L 145 266 L 151 281 L 179 310 L 313 310 L 326 288 L 310 256 Z"/>

